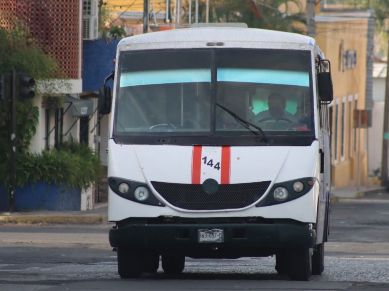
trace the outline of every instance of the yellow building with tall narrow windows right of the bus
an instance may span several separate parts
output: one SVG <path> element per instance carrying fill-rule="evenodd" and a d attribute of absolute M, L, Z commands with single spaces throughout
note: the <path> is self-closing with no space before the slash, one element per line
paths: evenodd
<path fill-rule="evenodd" d="M 315 38 L 331 61 L 334 83 L 329 110 L 334 188 L 364 185 L 368 179 L 367 131 L 354 128 L 353 116 L 355 109 L 372 108 L 372 17 L 370 12 L 339 11 L 315 16 Z"/>

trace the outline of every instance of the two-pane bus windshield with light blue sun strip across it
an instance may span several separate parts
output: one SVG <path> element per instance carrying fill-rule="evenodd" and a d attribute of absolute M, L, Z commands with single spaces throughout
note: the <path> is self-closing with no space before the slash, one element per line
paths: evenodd
<path fill-rule="evenodd" d="M 119 60 L 114 135 L 252 137 L 250 123 L 270 136 L 313 135 L 309 51 L 143 50 Z"/>

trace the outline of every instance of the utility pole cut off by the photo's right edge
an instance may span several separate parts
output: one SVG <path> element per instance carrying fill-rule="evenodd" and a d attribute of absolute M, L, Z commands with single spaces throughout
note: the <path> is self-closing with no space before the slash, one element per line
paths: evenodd
<path fill-rule="evenodd" d="M 389 140 L 389 43 L 388 60 L 386 73 L 385 106 L 384 106 L 384 130 L 382 138 L 382 159 L 381 159 L 381 186 L 388 189 L 388 140 Z"/>

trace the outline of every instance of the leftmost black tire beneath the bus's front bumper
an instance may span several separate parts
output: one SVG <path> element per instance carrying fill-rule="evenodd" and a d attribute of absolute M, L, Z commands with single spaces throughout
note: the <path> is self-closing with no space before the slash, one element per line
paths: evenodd
<path fill-rule="evenodd" d="M 118 247 L 118 273 L 122 279 L 139 278 L 143 273 L 140 250 Z"/>

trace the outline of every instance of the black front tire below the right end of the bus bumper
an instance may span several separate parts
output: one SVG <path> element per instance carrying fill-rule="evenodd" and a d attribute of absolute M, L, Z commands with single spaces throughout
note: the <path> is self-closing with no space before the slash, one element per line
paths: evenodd
<path fill-rule="evenodd" d="M 312 275 L 311 250 L 307 247 L 291 249 L 289 253 L 288 276 L 293 281 L 308 281 Z"/>

